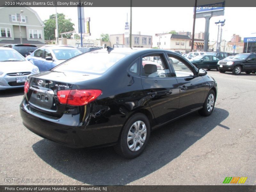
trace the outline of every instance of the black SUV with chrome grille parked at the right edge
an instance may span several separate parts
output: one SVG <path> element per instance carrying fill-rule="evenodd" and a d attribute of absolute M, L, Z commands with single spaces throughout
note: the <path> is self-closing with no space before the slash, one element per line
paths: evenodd
<path fill-rule="evenodd" d="M 247 74 L 256 71 L 256 53 L 240 53 L 229 60 L 218 62 L 220 73 L 232 71 L 234 75 L 239 75 L 242 71 Z"/>

